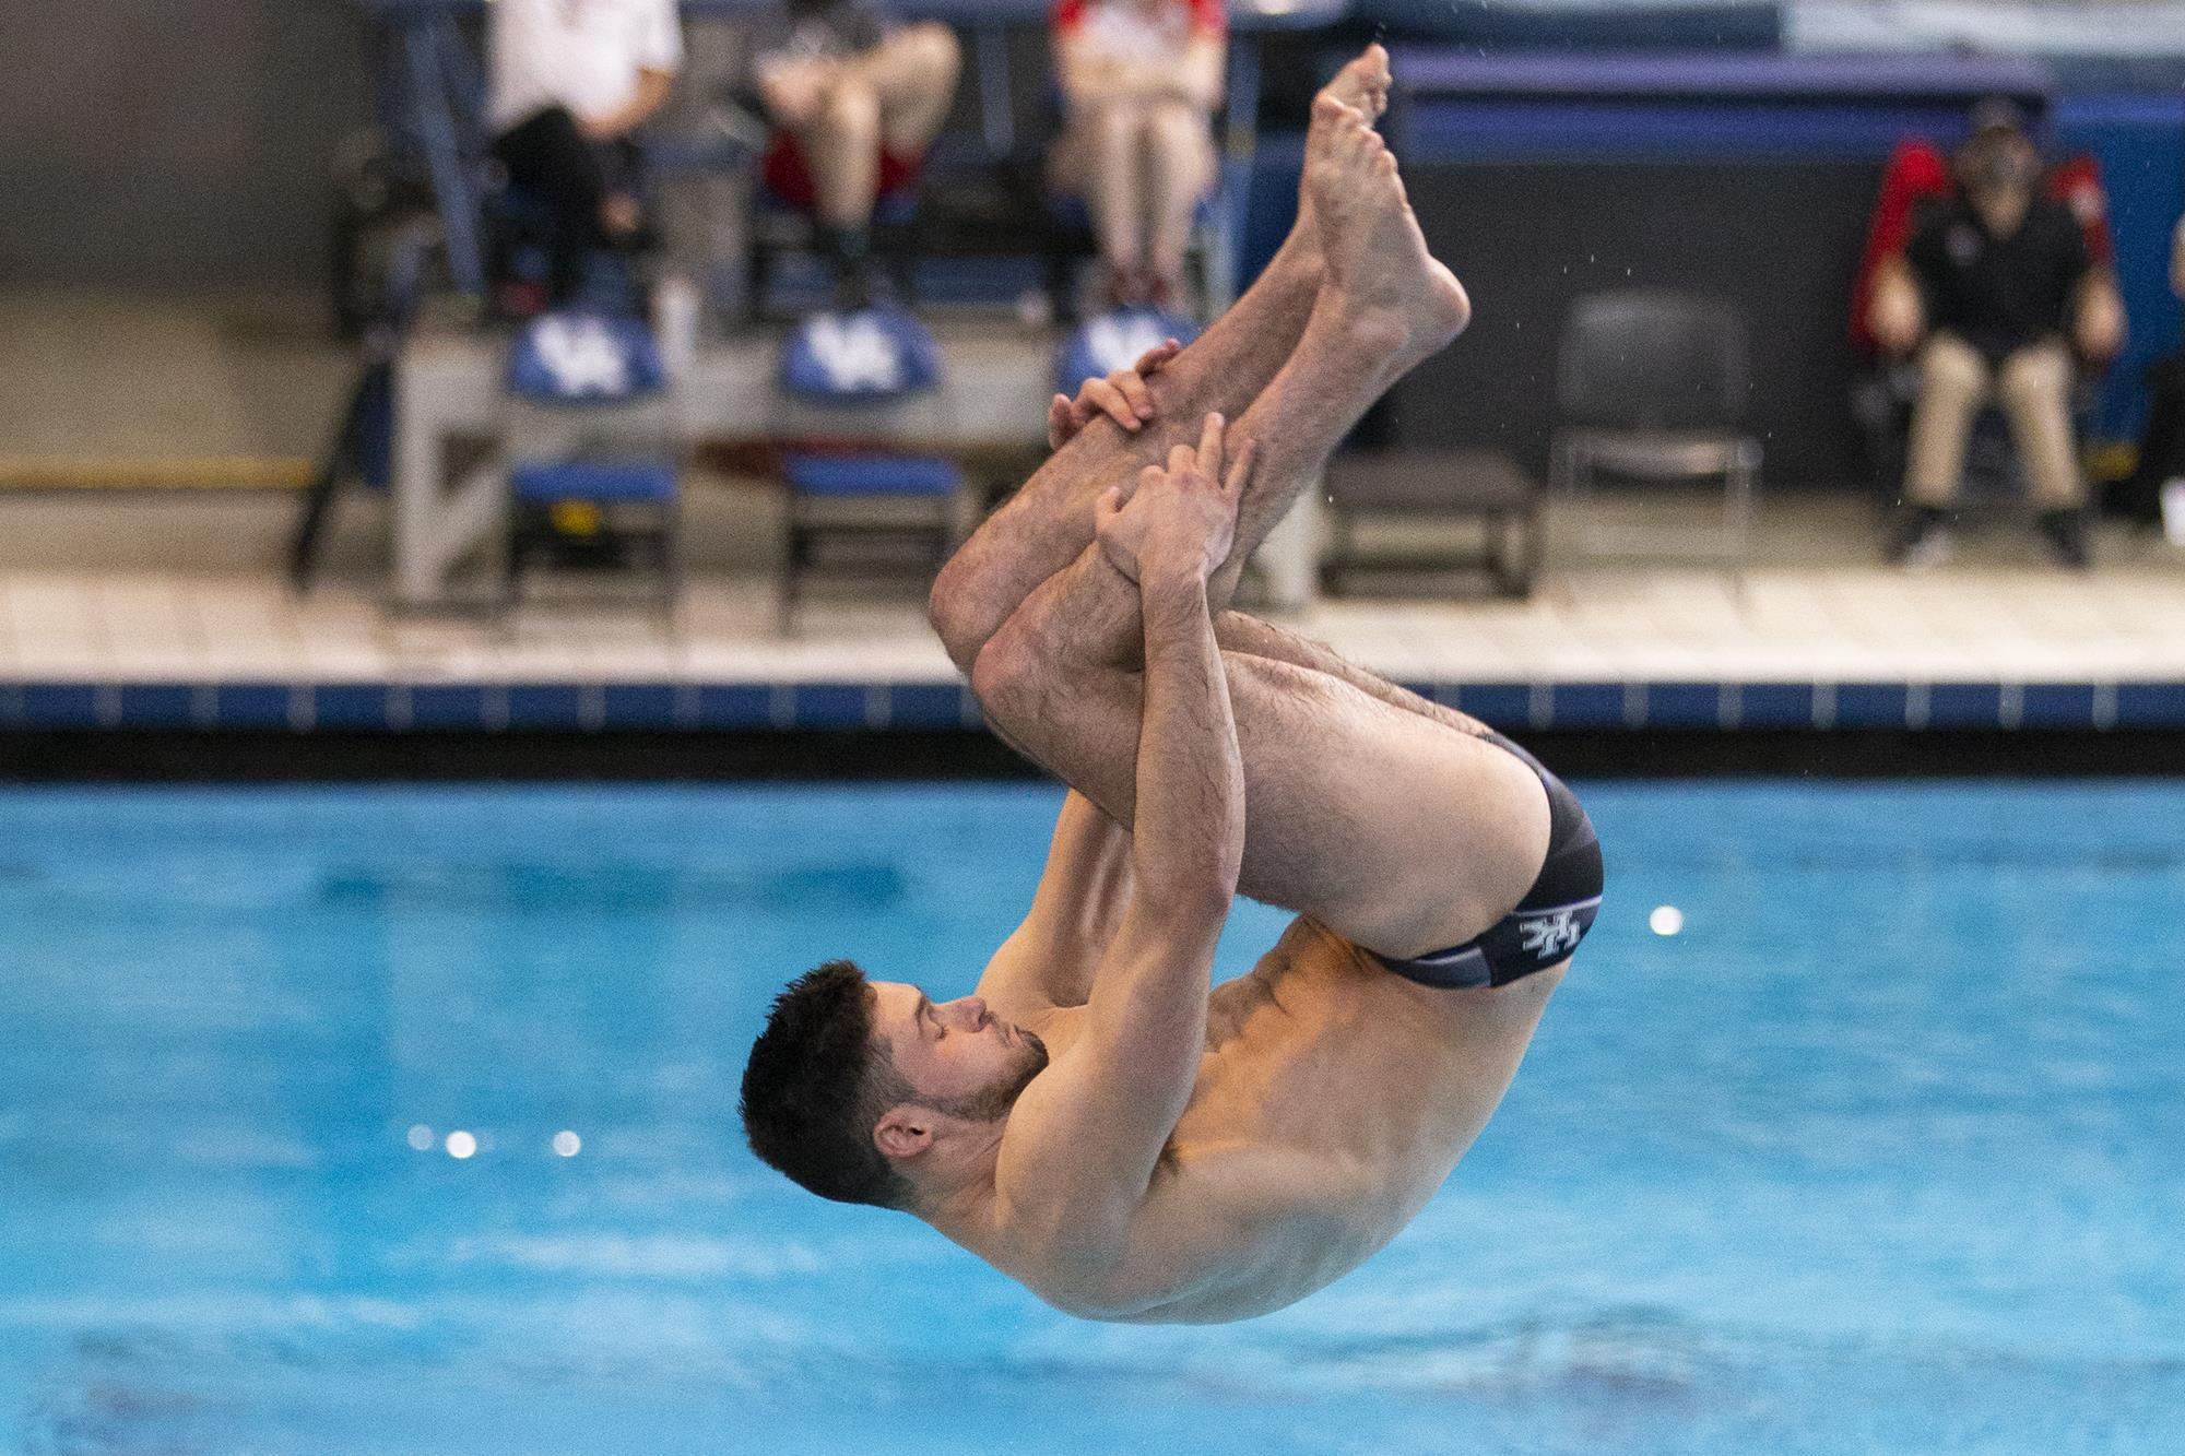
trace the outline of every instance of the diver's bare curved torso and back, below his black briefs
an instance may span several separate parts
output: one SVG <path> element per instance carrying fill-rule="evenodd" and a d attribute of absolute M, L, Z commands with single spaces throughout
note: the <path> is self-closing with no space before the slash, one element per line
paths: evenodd
<path fill-rule="evenodd" d="M 1062 1248 L 1005 1218 L 946 1233 L 1086 1318 L 1215 1323 L 1280 1310 L 1357 1268 L 1427 1205 L 1486 1126 L 1560 977 L 1558 966 L 1460 1001 L 1300 916 L 1208 997 L 1191 1104 L 1117 1268 L 1079 1285 L 1068 1229 L 1055 1233 Z M 1055 1006 L 1020 1023 L 1060 1060 L 1084 1014 Z M 1038 1095 L 1034 1080 L 1012 1126 L 1038 1119 Z M 1007 1200 L 1007 1135 L 996 1174 Z"/>

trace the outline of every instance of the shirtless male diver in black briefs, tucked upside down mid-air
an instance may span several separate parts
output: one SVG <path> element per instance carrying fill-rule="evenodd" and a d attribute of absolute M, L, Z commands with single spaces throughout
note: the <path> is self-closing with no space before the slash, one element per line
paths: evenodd
<path fill-rule="evenodd" d="M 802 975 L 743 1078 L 765 1161 L 1086 1318 L 1250 1318 L 1381 1248 L 1479 1135 L 1599 905 L 1599 844 L 1538 761 L 1226 610 L 1344 433 L 1468 317 L 1370 127 L 1385 92 L 1374 46 L 1315 98 L 1298 227 L 1252 291 L 1058 400 L 1073 437 L 935 582 L 988 719 L 1071 785 L 1025 923 L 946 1003 L 850 962 Z M 1210 988 L 1237 892 L 1298 918 Z"/>

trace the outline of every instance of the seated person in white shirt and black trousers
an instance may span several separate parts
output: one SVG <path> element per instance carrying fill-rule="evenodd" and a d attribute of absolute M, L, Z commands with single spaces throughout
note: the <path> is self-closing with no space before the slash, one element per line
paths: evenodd
<path fill-rule="evenodd" d="M 682 66 L 675 0 L 496 0 L 492 15 L 494 157 L 548 214 L 548 291 L 564 304 L 597 249 L 645 243 L 631 133 Z"/>

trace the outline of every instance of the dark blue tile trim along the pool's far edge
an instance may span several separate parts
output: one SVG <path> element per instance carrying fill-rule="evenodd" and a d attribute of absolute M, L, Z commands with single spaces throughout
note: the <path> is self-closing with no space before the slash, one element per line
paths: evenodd
<path fill-rule="evenodd" d="M 1407 682 L 1505 730 L 2185 728 L 2185 680 Z M 959 682 L 0 682 L 0 732 L 708 732 L 979 728 Z"/>

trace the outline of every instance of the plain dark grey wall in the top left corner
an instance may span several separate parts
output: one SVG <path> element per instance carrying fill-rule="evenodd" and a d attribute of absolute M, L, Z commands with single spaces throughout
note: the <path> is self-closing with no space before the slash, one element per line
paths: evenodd
<path fill-rule="evenodd" d="M 0 284 L 308 286 L 369 125 L 341 0 L 0 4 Z"/>

